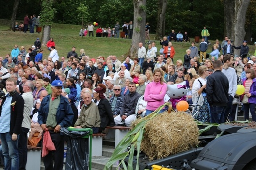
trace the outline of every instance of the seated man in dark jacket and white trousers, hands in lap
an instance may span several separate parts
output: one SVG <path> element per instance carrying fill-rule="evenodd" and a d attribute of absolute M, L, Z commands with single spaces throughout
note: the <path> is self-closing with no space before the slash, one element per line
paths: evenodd
<path fill-rule="evenodd" d="M 129 84 L 129 91 L 130 93 L 124 97 L 124 101 L 120 109 L 120 115 L 116 116 L 114 119 L 116 125 L 124 122 L 126 126 L 130 127 L 131 122 L 136 119 L 135 110 L 140 95 L 136 92 L 135 83 L 131 82 Z"/>

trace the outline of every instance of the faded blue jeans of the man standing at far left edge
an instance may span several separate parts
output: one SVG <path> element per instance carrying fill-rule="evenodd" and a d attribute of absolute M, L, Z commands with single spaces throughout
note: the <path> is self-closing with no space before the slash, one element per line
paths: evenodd
<path fill-rule="evenodd" d="M 18 140 L 13 141 L 11 139 L 11 134 L 0 133 L 0 138 L 2 141 L 2 153 L 4 156 L 4 166 L 5 170 L 19 170 L 19 152 L 18 152 Z"/>

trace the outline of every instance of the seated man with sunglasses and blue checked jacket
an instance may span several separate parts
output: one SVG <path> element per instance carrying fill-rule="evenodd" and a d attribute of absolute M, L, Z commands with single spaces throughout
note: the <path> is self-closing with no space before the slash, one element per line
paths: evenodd
<path fill-rule="evenodd" d="M 114 85 L 113 87 L 115 95 L 113 95 L 110 98 L 110 105 L 111 105 L 111 110 L 113 113 L 113 116 L 117 116 L 120 114 L 120 108 L 123 104 L 124 96 L 121 95 L 121 86 L 120 85 Z"/>

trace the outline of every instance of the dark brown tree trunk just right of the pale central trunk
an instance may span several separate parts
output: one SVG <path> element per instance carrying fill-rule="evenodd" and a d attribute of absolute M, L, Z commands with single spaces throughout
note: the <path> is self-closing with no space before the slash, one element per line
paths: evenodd
<path fill-rule="evenodd" d="M 158 0 L 158 18 L 155 40 L 160 40 L 165 34 L 165 13 L 167 0 Z"/>

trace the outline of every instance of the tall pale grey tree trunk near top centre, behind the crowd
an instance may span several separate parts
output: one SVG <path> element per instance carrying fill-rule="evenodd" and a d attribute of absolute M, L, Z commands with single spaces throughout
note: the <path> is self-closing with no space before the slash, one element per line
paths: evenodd
<path fill-rule="evenodd" d="M 130 56 L 138 54 L 139 42 L 145 42 L 146 0 L 133 0 L 134 22 Z"/>

